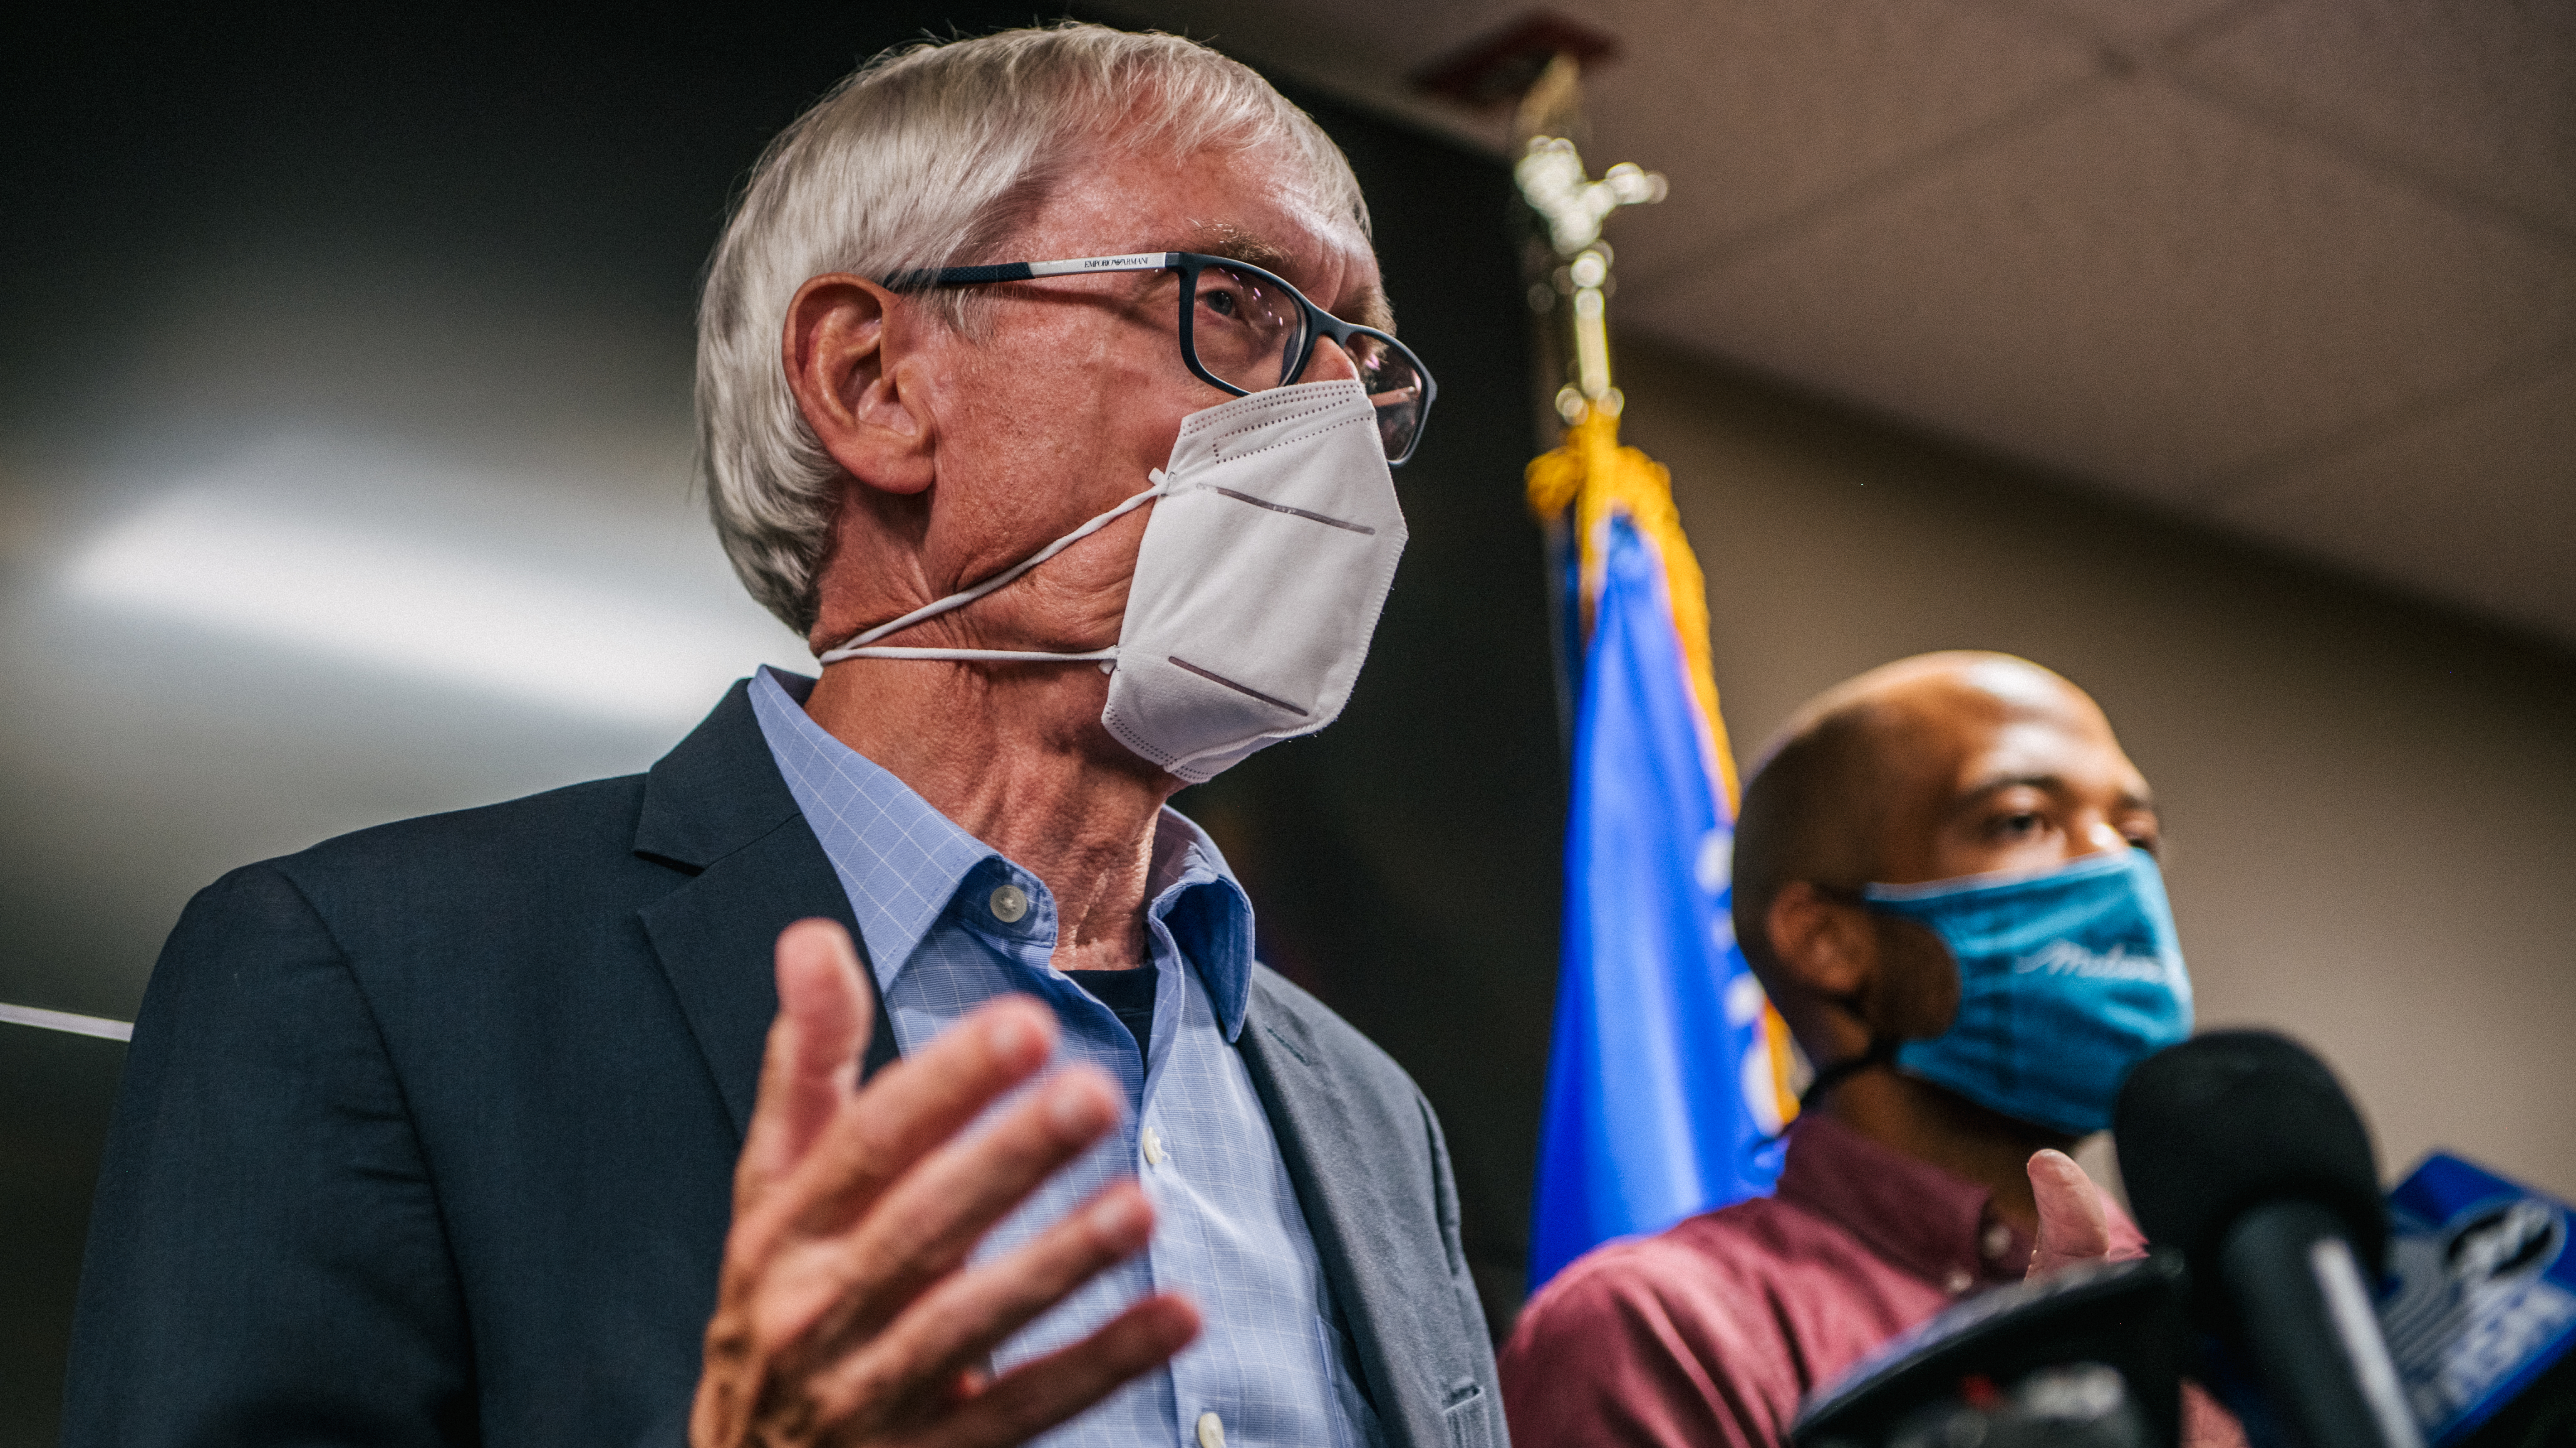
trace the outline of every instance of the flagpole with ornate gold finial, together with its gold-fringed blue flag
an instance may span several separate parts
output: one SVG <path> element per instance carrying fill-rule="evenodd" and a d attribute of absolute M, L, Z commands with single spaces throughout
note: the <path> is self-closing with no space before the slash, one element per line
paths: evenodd
<path fill-rule="evenodd" d="M 1736 768 L 1708 649 L 1708 582 L 1672 474 L 1620 446 L 1602 222 L 1664 178 L 1577 149 L 1558 54 L 1520 106 L 1520 193 L 1540 219 L 1564 435 L 1528 469 L 1548 528 L 1574 788 L 1556 1025 L 1530 1211 L 1530 1286 L 1589 1247 L 1770 1190 L 1798 1103 L 1790 1043 L 1736 948 Z"/>

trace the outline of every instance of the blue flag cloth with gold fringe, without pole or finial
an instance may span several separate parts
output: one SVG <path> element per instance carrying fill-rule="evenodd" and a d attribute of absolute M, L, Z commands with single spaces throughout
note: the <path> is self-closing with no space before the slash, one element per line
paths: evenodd
<path fill-rule="evenodd" d="M 1705 685 L 1705 613 L 1692 598 L 1677 616 L 1672 598 L 1674 572 L 1698 590 L 1698 564 L 1664 469 L 1618 453 L 1651 469 L 1654 495 L 1638 497 L 1643 528 L 1625 508 L 1574 510 L 1600 520 L 1582 549 L 1589 580 L 1566 590 L 1589 595 L 1592 626 L 1579 639 L 1530 1291 L 1600 1242 L 1767 1193 L 1795 1113 L 1785 1031 L 1728 917 L 1731 765 Z"/>

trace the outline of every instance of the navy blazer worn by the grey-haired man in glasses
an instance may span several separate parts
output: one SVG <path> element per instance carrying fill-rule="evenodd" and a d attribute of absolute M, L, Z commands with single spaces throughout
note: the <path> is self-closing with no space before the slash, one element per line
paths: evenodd
<path fill-rule="evenodd" d="M 739 683 L 652 773 L 209 886 L 134 1023 L 64 1443 L 685 1440 L 809 915 L 858 935 Z M 1422 1092 L 1267 969 L 1239 1049 L 1388 1440 L 1502 1445 Z"/>

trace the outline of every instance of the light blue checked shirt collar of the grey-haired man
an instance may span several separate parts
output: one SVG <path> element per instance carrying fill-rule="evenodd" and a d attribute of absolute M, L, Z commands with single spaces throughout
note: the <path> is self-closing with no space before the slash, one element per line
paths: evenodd
<path fill-rule="evenodd" d="M 824 732 L 804 711 L 811 693 L 814 680 L 773 667 L 762 667 L 750 688 L 778 773 L 850 894 L 878 989 L 894 989 L 894 979 L 961 889 L 1020 884 L 1030 897 L 1030 915 L 1018 933 L 1054 930 L 1054 899 L 1033 873 Z M 1252 899 L 1226 868 L 1216 840 L 1177 809 L 1154 819 L 1146 897 L 1146 915 L 1198 966 L 1226 1041 L 1234 1041 L 1252 997 Z M 958 917 L 979 920 L 974 912 Z"/>

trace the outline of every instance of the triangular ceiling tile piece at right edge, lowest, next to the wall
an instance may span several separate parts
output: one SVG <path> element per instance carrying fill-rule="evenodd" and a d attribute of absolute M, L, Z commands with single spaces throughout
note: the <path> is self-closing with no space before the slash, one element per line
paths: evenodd
<path fill-rule="evenodd" d="M 2576 639 L 2576 361 L 2228 497 L 2218 515 Z"/>

